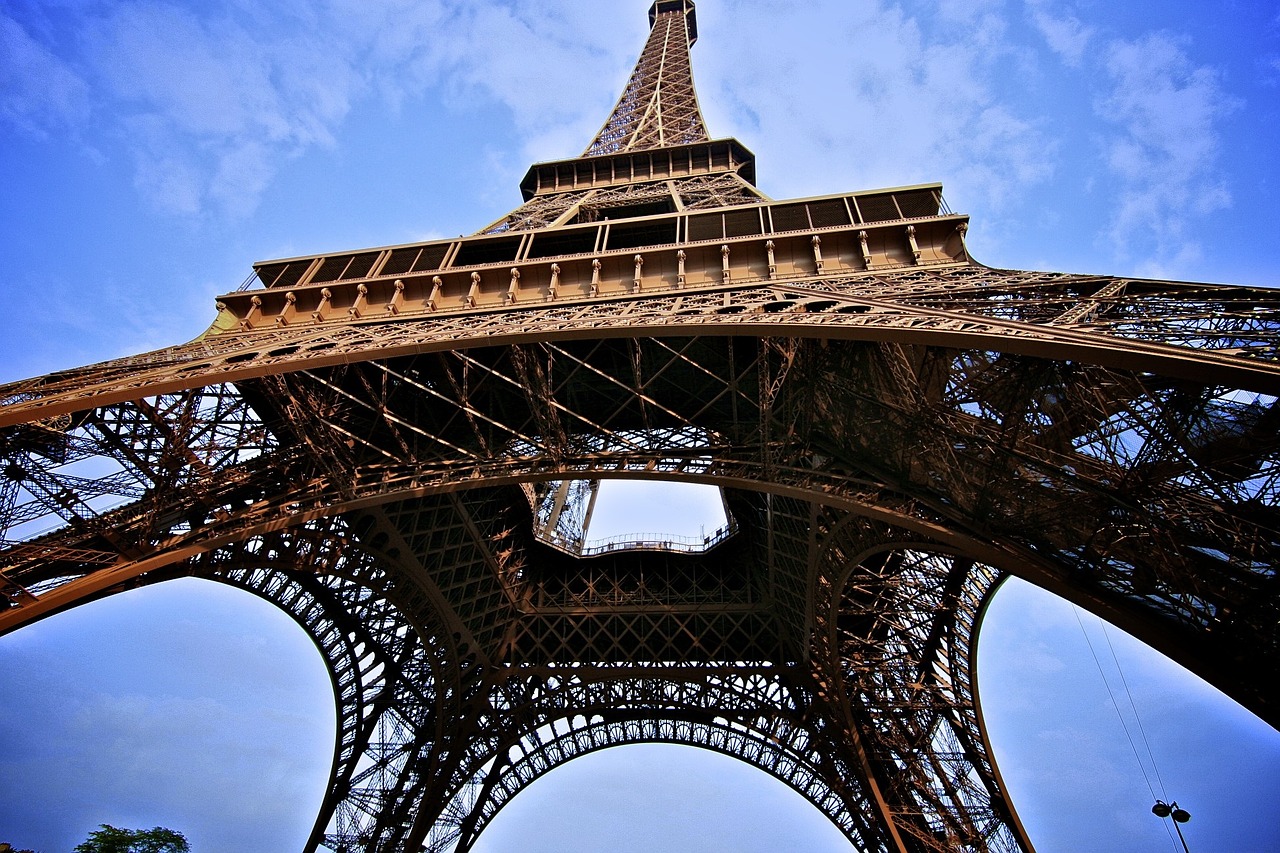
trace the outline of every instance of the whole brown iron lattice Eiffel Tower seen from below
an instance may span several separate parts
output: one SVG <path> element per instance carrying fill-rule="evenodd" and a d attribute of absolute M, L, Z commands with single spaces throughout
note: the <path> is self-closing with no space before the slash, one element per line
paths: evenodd
<path fill-rule="evenodd" d="M 774 201 L 659 0 L 479 233 L 255 265 L 196 341 L 0 388 L 0 633 L 252 592 L 333 679 L 306 850 L 472 848 L 575 757 L 701 747 L 859 850 L 1032 850 L 975 695 L 1018 575 L 1280 722 L 1280 300 L 1002 270 L 924 184 Z M 596 484 L 719 487 L 593 543 Z"/>

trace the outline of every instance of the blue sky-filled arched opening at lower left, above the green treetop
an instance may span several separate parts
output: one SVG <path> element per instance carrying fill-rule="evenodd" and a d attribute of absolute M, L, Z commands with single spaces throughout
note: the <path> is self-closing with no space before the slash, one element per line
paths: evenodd
<path fill-rule="evenodd" d="M 195 850 L 298 850 L 334 725 L 315 646 L 247 592 L 180 579 L 77 607 L 0 639 L 0 841 L 161 825 Z"/>

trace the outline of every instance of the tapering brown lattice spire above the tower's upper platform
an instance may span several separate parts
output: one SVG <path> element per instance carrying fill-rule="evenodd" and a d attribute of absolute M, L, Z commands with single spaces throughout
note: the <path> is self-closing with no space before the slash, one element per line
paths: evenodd
<path fill-rule="evenodd" d="M 649 8 L 649 41 L 631 79 L 584 156 L 703 142 L 689 49 L 698 41 L 694 0 L 659 0 Z"/>

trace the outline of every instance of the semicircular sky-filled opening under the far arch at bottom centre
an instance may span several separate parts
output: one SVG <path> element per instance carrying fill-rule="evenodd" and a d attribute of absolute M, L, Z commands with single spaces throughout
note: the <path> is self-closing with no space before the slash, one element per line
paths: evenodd
<path fill-rule="evenodd" d="M 773 776 L 695 747 L 634 744 L 575 758 L 516 795 L 474 853 L 849 853 L 822 812 Z"/>

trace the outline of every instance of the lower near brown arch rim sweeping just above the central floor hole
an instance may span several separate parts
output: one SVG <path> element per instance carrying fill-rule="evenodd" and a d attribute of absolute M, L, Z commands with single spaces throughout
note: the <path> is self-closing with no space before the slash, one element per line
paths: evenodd
<path fill-rule="evenodd" d="M 1097 612 L 1148 644 L 1161 648 L 1202 678 L 1219 684 L 1265 719 L 1274 716 L 1271 713 L 1274 708 L 1258 702 L 1266 695 L 1266 685 L 1252 685 L 1258 693 L 1251 695 L 1242 693 L 1242 688 L 1249 685 L 1226 680 L 1230 672 L 1222 667 L 1222 661 L 1228 657 L 1224 647 L 1215 644 L 1217 635 L 1202 633 L 1203 626 L 1212 620 L 1212 613 L 1204 613 L 1203 607 L 1199 611 L 1189 611 L 1187 607 L 1188 605 L 1194 607 L 1197 605 L 1194 601 L 1188 602 L 1184 597 L 1171 594 L 1167 597 L 1169 606 L 1161 607 L 1160 598 L 1132 597 L 1123 590 L 1110 590 L 1097 584 L 1089 589 L 1080 584 L 1080 573 L 1084 569 L 1097 567 L 1097 564 L 1091 561 L 1091 555 L 1037 552 L 1007 539 L 998 542 L 984 539 L 975 532 L 965 530 L 968 524 L 948 525 L 947 521 L 957 516 L 936 500 L 910 492 L 893 498 L 895 489 L 890 489 L 882 482 L 852 480 L 838 471 L 788 467 L 777 462 L 765 464 L 760 460 L 728 456 L 689 460 L 667 459 L 660 453 L 617 456 L 594 453 L 557 461 L 516 459 L 474 464 L 462 476 L 451 473 L 449 469 L 440 470 L 435 465 L 367 466 L 357 487 L 358 491 L 353 494 L 348 491 L 344 496 L 338 488 L 312 489 L 306 494 L 279 494 L 274 498 L 278 507 L 275 515 L 269 515 L 265 521 L 256 521 L 262 515 L 262 506 L 259 505 L 252 507 L 252 514 L 247 516 L 248 525 L 244 524 L 243 516 L 232 515 L 221 524 L 202 528 L 193 542 L 134 562 L 100 570 L 83 580 L 72 580 L 45 593 L 38 605 L 6 613 L 0 612 L 0 630 L 12 630 L 26 621 L 56 612 L 87 596 L 99 594 L 140 575 L 243 539 L 274 533 L 282 526 L 297 526 L 353 510 L 477 487 L 518 485 L 564 476 L 590 478 L 598 474 L 636 479 L 686 479 L 723 488 L 764 492 L 813 501 L 820 506 L 850 511 L 877 523 L 910 530 L 916 537 L 924 537 L 927 540 L 961 551 L 983 564 L 1027 578 Z M 769 476 L 772 479 L 767 479 Z M 940 517 L 938 512 L 945 515 Z M 1123 567 L 1117 576 L 1125 576 Z M 1188 613 L 1193 617 L 1189 619 Z M 1242 651 L 1244 649 L 1233 649 L 1234 653 Z"/>

